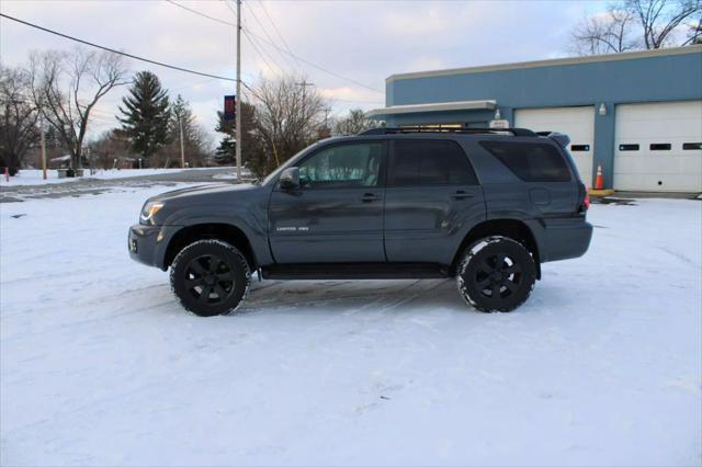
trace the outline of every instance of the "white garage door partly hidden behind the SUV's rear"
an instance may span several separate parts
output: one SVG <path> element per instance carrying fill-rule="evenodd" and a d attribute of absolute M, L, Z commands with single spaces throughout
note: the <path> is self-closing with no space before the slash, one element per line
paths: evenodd
<path fill-rule="evenodd" d="M 568 135 L 568 150 L 575 159 L 580 178 L 586 186 L 592 186 L 595 107 L 520 109 L 514 112 L 514 126 Z"/>

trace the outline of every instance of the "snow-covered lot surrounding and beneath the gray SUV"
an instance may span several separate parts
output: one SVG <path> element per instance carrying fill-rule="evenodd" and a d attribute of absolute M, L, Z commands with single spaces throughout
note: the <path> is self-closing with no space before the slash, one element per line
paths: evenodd
<path fill-rule="evenodd" d="M 201 319 L 127 255 L 161 190 L 0 204 L 3 466 L 702 462 L 702 203 L 593 205 L 512 314 L 262 282 Z"/>

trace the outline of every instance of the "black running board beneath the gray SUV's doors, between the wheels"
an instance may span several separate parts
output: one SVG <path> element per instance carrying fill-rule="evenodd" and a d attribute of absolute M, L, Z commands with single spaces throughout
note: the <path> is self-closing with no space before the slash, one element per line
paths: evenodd
<path fill-rule="evenodd" d="M 263 278 L 445 278 L 449 267 L 432 263 L 315 263 L 273 264 L 261 267 Z"/>

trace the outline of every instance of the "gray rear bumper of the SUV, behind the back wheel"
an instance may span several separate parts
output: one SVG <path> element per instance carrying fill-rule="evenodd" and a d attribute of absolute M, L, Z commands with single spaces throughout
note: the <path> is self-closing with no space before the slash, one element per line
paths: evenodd
<path fill-rule="evenodd" d="M 584 218 L 547 219 L 537 221 L 536 235 L 542 263 L 584 255 L 592 239 L 592 225 Z"/>

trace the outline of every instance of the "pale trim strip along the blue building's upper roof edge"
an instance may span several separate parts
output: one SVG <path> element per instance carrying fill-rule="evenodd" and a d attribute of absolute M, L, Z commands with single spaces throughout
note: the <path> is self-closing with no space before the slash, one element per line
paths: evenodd
<path fill-rule="evenodd" d="M 480 72 L 487 72 L 487 71 L 520 70 L 520 69 L 528 69 L 528 68 L 596 64 L 596 62 L 602 62 L 602 61 L 635 60 L 639 58 L 665 57 L 665 56 L 671 56 L 671 55 L 700 54 L 700 53 L 702 53 L 702 45 L 690 45 L 684 47 L 661 48 L 657 50 L 622 52 L 619 54 L 590 55 L 587 57 L 567 57 L 567 58 L 555 58 L 555 59 L 548 59 L 548 60 L 518 61 L 512 64 L 487 65 L 487 66 L 479 66 L 479 67 L 449 68 L 445 70 L 414 71 L 414 72 L 407 72 L 407 73 L 390 75 L 385 79 L 385 82 L 389 83 L 396 80 L 412 79 L 412 78 L 433 78 L 433 77 L 442 77 L 442 76 L 451 76 L 451 75 L 480 73 Z"/>

